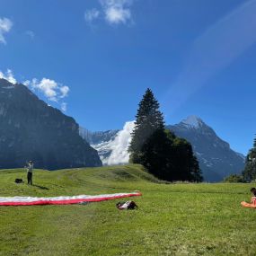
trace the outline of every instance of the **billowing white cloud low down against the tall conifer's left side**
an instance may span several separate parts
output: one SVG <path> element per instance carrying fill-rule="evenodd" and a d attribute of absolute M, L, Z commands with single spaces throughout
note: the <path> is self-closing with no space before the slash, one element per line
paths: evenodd
<path fill-rule="evenodd" d="M 119 131 L 117 136 L 110 142 L 111 154 L 106 159 L 105 164 L 128 163 L 128 146 L 131 141 L 131 133 L 135 127 L 134 121 L 125 123 L 124 128 Z"/>

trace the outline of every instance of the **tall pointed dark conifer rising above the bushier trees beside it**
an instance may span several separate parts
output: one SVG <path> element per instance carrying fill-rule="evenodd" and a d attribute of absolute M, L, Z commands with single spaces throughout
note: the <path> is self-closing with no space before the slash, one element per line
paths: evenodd
<path fill-rule="evenodd" d="M 163 150 L 166 143 L 163 114 L 150 89 L 146 90 L 138 104 L 135 128 L 131 137 L 128 148 L 130 162 L 143 164 L 149 172 L 163 178 Z"/>

